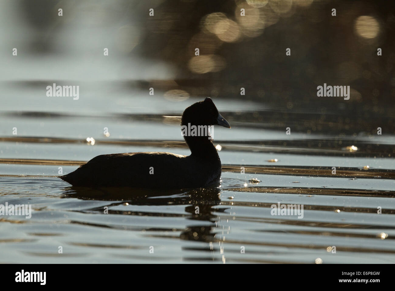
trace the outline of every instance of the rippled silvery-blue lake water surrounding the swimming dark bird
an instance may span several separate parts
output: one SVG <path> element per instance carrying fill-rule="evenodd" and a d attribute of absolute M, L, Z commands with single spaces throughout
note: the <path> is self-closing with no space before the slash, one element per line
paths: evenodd
<path fill-rule="evenodd" d="M 1 263 L 395 262 L 393 135 L 339 138 L 293 124 L 287 135 L 287 120 L 314 120 L 316 108 L 292 115 L 218 97 L 232 126 L 214 128 L 219 188 L 73 188 L 59 167 L 70 173 L 99 154 L 189 154 L 177 118 L 166 116 L 203 98 L 92 82 L 73 100 L 46 97 L 47 83 L 2 83 L 0 204 L 32 205 L 32 215 L 0 216 Z M 275 112 L 285 123 L 273 127 Z M 272 215 L 273 204 L 303 205 L 303 217 Z"/>

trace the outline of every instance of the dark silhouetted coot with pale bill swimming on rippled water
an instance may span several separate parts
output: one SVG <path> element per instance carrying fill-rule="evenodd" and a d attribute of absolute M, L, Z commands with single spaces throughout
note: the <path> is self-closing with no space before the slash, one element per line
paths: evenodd
<path fill-rule="evenodd" d="M 194 103 L 181 118 L 189 156 L 169 152 L 131 152 L 96 156 L 59 178 L 73 186 L 134 188 L 201 188 L 218 184 L 221 160 L 207 130 L 230 128 L 211 98 Z"/>

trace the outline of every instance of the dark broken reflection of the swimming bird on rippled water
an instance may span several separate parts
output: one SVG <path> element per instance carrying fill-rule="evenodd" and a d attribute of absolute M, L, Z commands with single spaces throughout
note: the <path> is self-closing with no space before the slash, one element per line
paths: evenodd
<path fill-rule="evenodd" d="M 184 228 L 180 235 L 180 240 L 206 242 L 207 246 L 204 247 L 182 247 L 183 250 L 189 251 L 210 251 L 213 256 L 205 258 L 207 260 L 217 260 L 214 253 L 216 252 L 216 243 L 220 247 L 222 239 L 218 239 L 218 228 L 220 226 L 220 217 L 216 213 L 224 212 L 228 208 L 218 208 L 220 205 L 220 188 L 197 188 L 188 190 L 149 190 L 149 189 L 135 189 L 135 188 L 87 188 L 70 186 L 64 188 L 62 198 L 77 198 L 81 200 L 98 200 L 108 201 L 108 213 L 113 215 L 139 215 L 139 216 L 163 216 L 163 213 L 157 212 L 141 212 L 141 211 L 124 211 L 112 209 L 117 205 L 147 205 L 147 206 L 160 206 L 160 205 L 186 205 L 185 212 L 190 215 L 187 219 L 193 221 L 201 221 L 201 224 L 190 224 Z M 100 207 L 89 209 L 97 213 L 104 213 L 103 208 Z M 165 214 L 166 216 L 166 214 Z M 173 214 L 172 214 L 173 216 Z M 205 222 L 205 223 L 203 223 Z M 210 222 L 211 224 L 207 224 Z M 135 230 L 135 228 L 133 228 Z M 152 229 L 147 229 L 152 231 Z M 163 231 L 158 229 L 157 231 Z M 175 238 L 174 236 L 164 236 L 158 234 L 160 237 Z M 223 246 L 220 247 L 223 254 Z M 202 259 L 201 257 L 199 258 Z M 184 257 L 184 261 L 196 260 L 193 257 Z M 224 261 L 224 256 L 222 256 Z"/>

